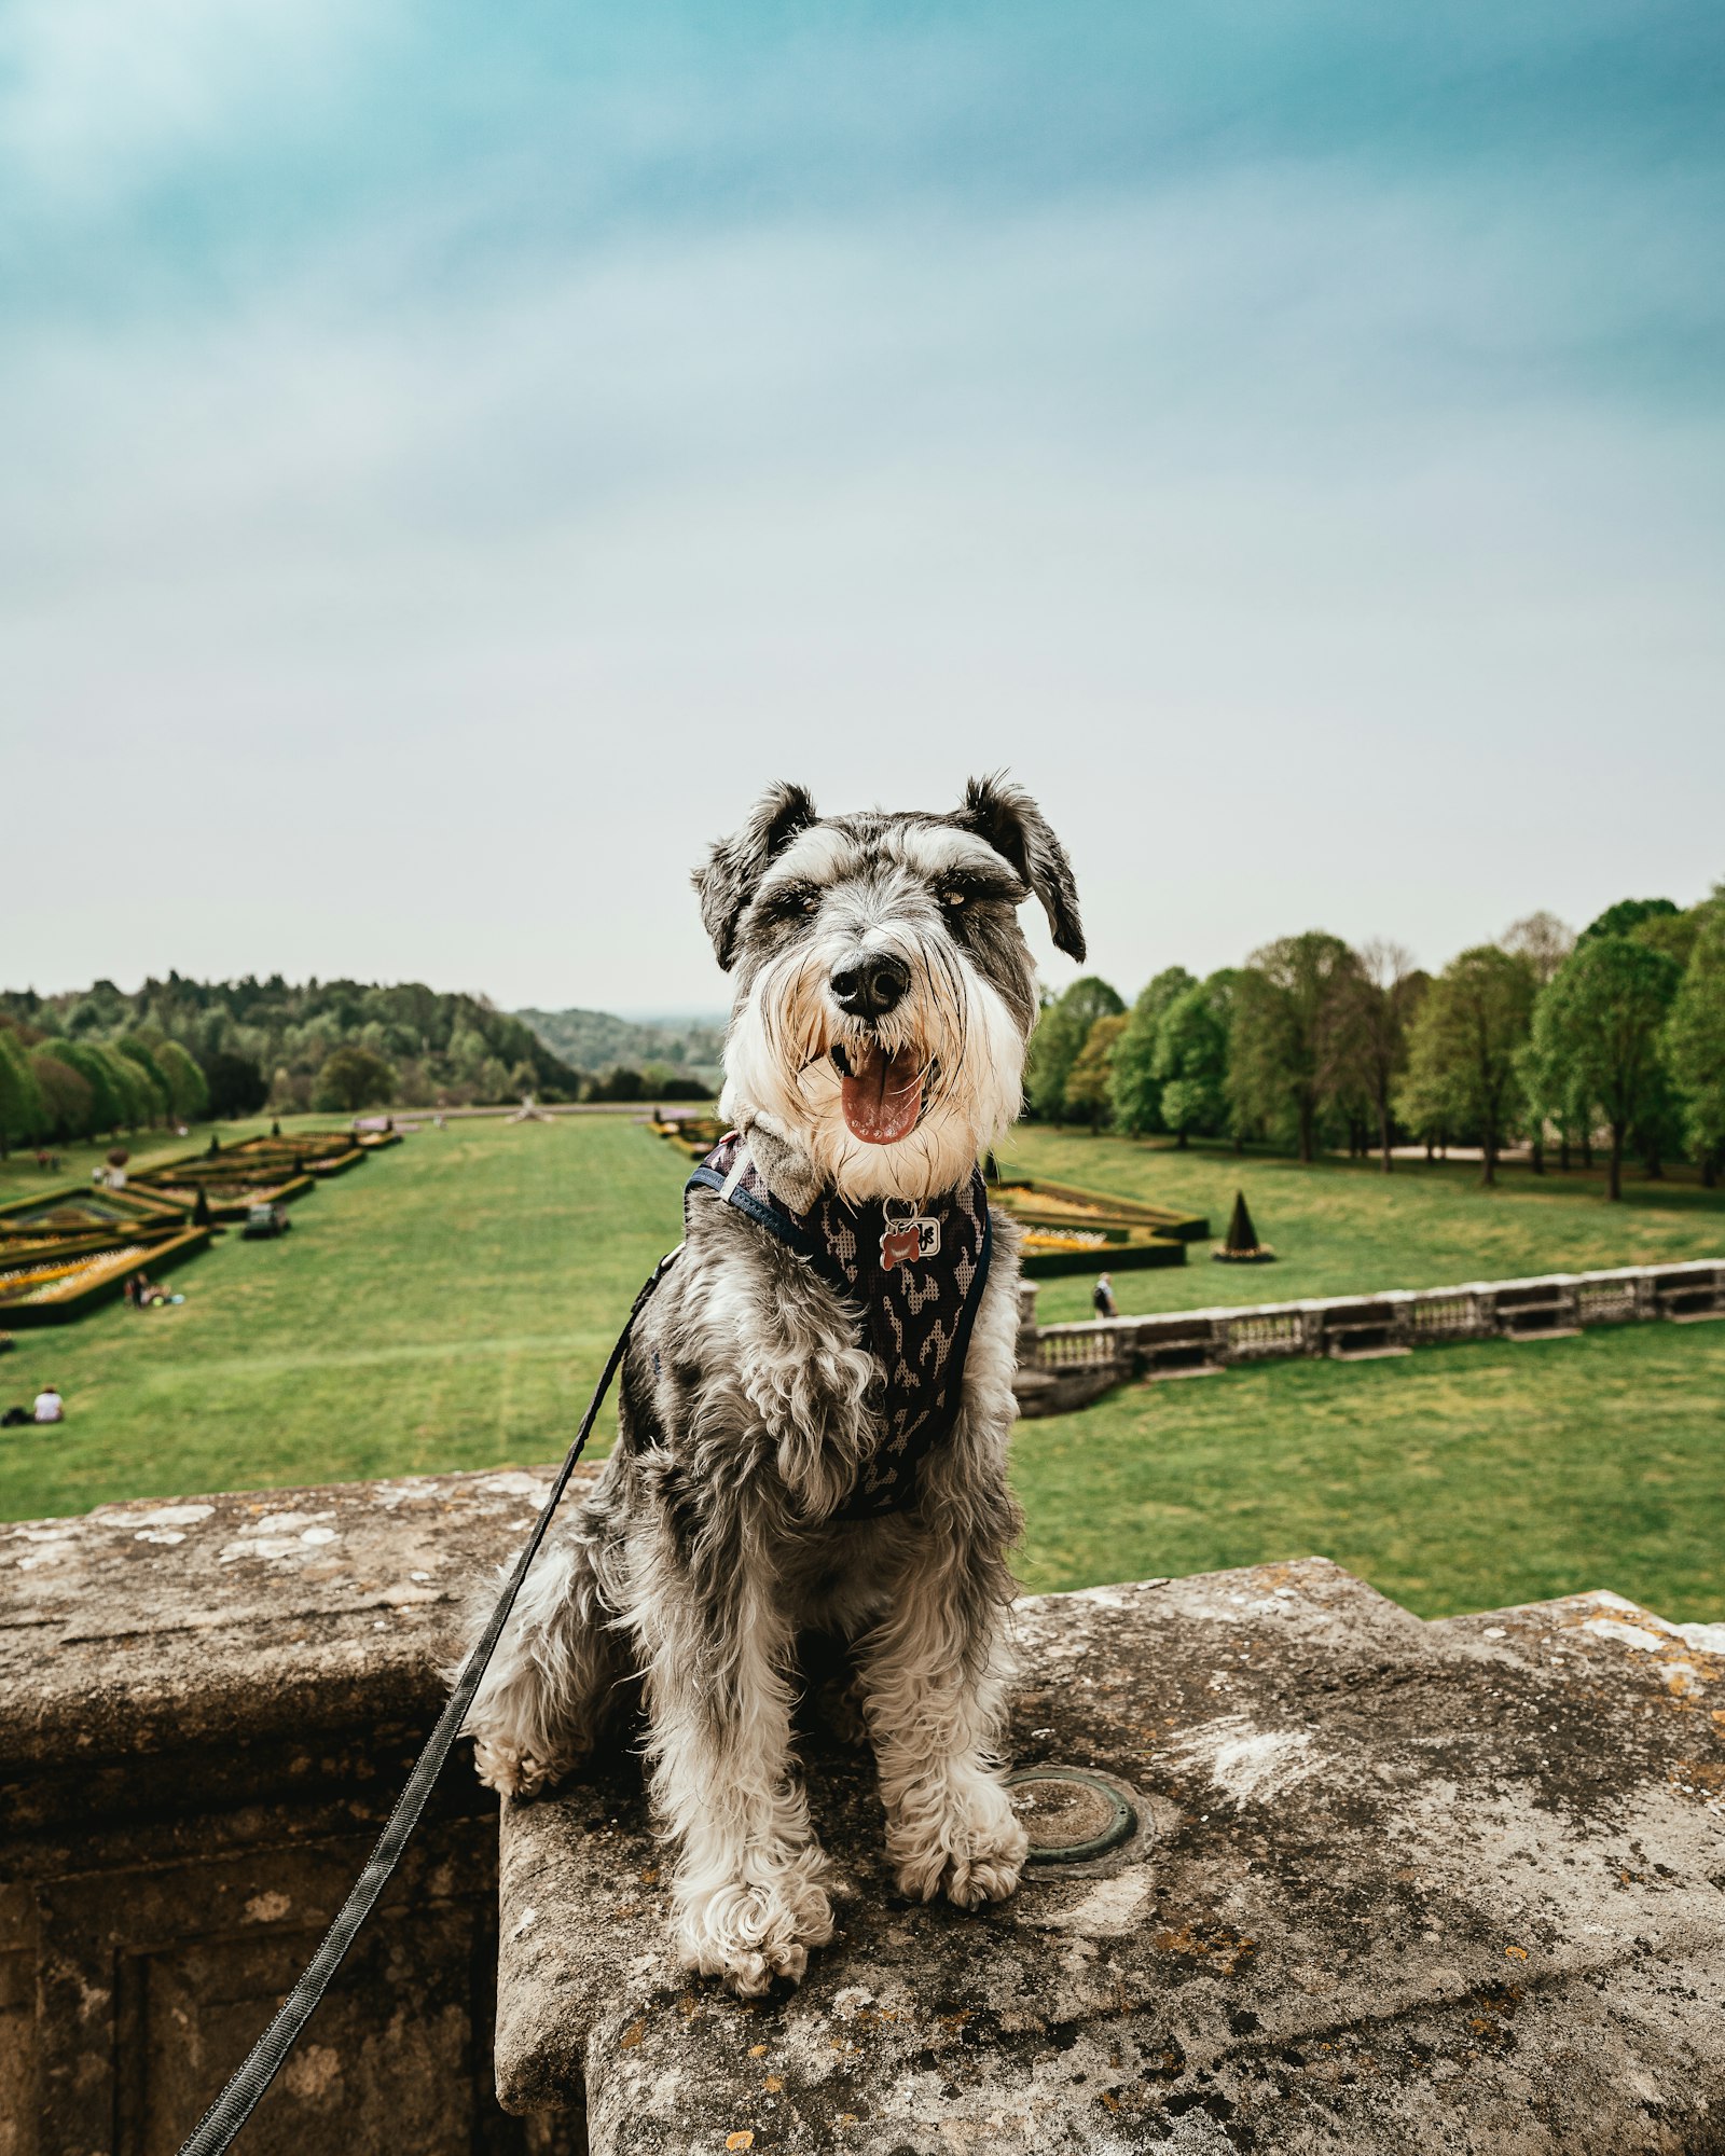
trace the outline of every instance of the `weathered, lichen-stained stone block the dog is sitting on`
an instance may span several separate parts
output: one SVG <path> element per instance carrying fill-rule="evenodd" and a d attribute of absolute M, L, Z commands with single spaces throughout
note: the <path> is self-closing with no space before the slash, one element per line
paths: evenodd
<path fill-rule="evenodd" d="M 586 2104 L 593 2156 L 1716 2145 L 1725 1628 L 1421 1623 L 1309 1559 L 1020 1632 L 1013 1759 L 1126 1781 L 1136 1846 L 895 1906 L 867 1761 L 811 1738 L 852 1895 L 804 1988 L 742 2005 L 666 1962 L 632 1772 L 507 1807 L 502 2102 Z"/>

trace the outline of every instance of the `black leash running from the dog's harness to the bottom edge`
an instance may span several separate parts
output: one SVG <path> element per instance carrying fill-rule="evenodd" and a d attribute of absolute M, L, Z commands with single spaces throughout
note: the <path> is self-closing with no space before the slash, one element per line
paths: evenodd
<path fill-rule="evenodd" d="M 623 1360 L 623 1352 L 630 1345 L 630 1332 L 634 1330 L 636 1317 L 640 1317 L 647 1307 L 647 1298 L 666 1276 L 677 1259 L 677 1250 L 662 1257 L 653 1266 L 653 1274 L 640 1294 L 634 1298 L 634 1309 L 630 1311 L 623 1330 L 617 1335 L 617 1345 L 610 1350 L 610 1360 L 606 1363 L 599 1386 L 593 1399 L 586 1404 L 586 1414 L 580 1419 L 580 1429 L 576 1432 L 576 1442 L 569 1447 L 569 1455 L 556 1473 L 552 1483 L 552 1494 L 546 1498 L 546 1509 L 539 1514 L 533 1533 L 526 1537 L 526 1548 L 515 1559 L 515 1570 L 509 1574 L 509 1585 L 498 1595 L 498 1606 L 485 1619 L 485 1630 L 472 1645 L 468 1660 L 461 1667 L 461 1675 L 455 1682 L 455 1690 L 448 1695 L 444 1712 L 438 1716 L 438 1727 L 425 1740 L 425 1751 L 414 1761 L 414 1772 L 408 1777 L 408 1785 L 395 1800 L 395 1811 L 388 1815 L 384 1833 L 377 1837 L 377 1848 L 367 1858 L 364 1871 L 354 1880 L 354 1889 L 347 1899 L 336 1910 L 334 1923 L 323 1934 L 317 1953 L 306 1964 L 304 1975 L 293 1986 L 293 1990 L 282 1999 L 276 2009 L 276 2018 L 263 2031 L 263 2035 L 252 2044 L 239 2070 L 233 2074 L 229 2085 L 216 2098 L 216 2102 L 205 2111 L 198 2124 L 192 2128 L 188 2139 L 179 2147 L 179 2156 L 222 2156 L 222 2150 L 233 2145 L 235 2134 L 246 2124 L 246 2119 L 257 2109 L 263 2091 L 276 2078 L 300 2040 L 300 2031 L 317 2012 L 317 2003 L 330 1986 L 330 1979 L 347 1960 L 347 1949 L 354 1945 L 360 1925 L 371 1915 L 377 1904 L 377 1895 L 390 1880 L 390 1874 L 401 1863 L 401 1852 L 418 1826 L 420 1813 L 425 1811 L 425 1800 L 431 1796 L 431 1785 L 436 1783 L 444 1759 L 448 1759 L 455 1738 L 461 1733 L 461 1723 L 468 1718 L 468 1708 L 472 1705 L 472 1695 L 479 1690 L 479 1680 L 502 1639 L 502 1628 L 509 1623 L 509 1613 L 515 1606 L 515 1595 L 522 1591 L 522 1580 L 528 1574 L 528 1565 L 539 1554 L 539 1544 L 546 1539 L 546 1529 L 552 1524 L 552 1514 L 563 1501 L 563 1492 L 569 1488 L 569 1477 L 576 1470 L 576 1462 L 582 1455 L 593 1423 L 597 1421 L 599 1408 L 606 1393 L 610 1391 L 610 1380 L 617 1376 L 617 1367 Z"/>

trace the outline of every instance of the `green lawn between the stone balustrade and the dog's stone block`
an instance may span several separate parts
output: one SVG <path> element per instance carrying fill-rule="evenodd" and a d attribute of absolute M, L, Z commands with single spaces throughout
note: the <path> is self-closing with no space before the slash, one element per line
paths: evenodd
<path fill-rule="evenodd" d="M 1020 1423 L 1033 1589 L 1322 1554 L 1421 1617 L 1725 1617 L 1725 1322 L 1270 1363 Z"/>

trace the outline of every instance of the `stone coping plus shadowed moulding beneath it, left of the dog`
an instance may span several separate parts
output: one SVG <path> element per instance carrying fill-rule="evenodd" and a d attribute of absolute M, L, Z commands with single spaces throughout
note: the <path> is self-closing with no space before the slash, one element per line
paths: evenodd
<path fill-rule="evenodd" d="M 597 1470 L 593 1470 L 597 1473 Z M 552 1470 L 423 1475 L 0 1526 L 0 1874 L 216 1854 L 257 1807 L 395 1802 L 474 1585 Z M 571 1496 L 578 1492 L 571 1492 Z M 487 1805 L 446 1774 L 433 1811 Z"/>

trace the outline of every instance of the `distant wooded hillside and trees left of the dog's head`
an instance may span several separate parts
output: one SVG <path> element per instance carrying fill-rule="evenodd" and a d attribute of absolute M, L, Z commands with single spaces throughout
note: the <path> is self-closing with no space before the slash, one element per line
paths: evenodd
<path fill-rule="evenodd" d="M 705 1093 L 679 1072 L 578 1069 L 481 996 L 423 983 L 144 981 L 0 994 L 0 1158 L 13 1145 L 319 1110 Z"/>

